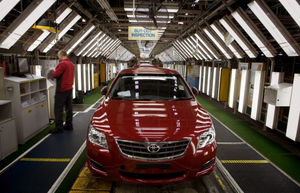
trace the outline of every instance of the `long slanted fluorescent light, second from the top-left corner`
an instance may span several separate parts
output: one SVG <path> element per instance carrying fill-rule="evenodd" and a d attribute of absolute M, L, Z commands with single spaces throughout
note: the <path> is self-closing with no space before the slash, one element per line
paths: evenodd
<path fill-rule="evenodd" d="M 3 31 L 1 48 L 9 49 L 40 18 L 56 0 L 34 0 L 15 21 Z M 3 11 L 1 7 L 1 11 Z"/>

